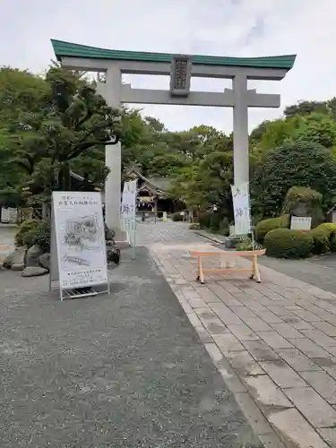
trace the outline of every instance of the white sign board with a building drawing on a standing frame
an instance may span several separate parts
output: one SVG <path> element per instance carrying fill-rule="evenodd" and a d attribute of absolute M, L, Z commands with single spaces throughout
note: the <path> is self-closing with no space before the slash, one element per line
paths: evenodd
<path fill-rule="evenodd" d="M 89 216 L 88 212 L 91 212 Z M 65 244 L 64 238 L 69 232 L 73 245 Z M 89 244 L 85 248 L 85 244 L 79 242 L 81 238 L 85 241 L 86 237 Z M 80 250 L 76 246 L 80 246 Z M 98 192 L 52 194 L 49 291 L 55 289 L 58 289 L 61 301 L 110 293 L 101 195 Z"/>

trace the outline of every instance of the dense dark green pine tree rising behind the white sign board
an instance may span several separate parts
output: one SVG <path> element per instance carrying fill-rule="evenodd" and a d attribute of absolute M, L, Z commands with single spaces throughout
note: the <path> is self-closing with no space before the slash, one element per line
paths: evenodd
<path fill-rule="evenodd" d="M 46 173 L 46 187 L 68 190 L 71 162 L 119 139 L 119 112 L 76 73 L 54 66 L 45 82 L 39 111 L 18 116 L 15 161 L 39 180 Z"/>

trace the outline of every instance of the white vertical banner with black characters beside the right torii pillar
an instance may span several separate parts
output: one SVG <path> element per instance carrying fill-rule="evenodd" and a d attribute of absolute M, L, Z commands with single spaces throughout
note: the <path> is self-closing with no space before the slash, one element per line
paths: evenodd
<path fill-rule="evenodd" d="M 235 215 L 235 234 L 251 233 L 250 195 L 248 183 L 231 185 L 233 211 Z"/>

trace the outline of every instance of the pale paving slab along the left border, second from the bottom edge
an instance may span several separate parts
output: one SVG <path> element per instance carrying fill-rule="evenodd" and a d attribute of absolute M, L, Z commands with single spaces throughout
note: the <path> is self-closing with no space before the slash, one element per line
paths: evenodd
<path fill-rule="evenodd" d="M 254 397 L 255 401 L 258 401 L 262 408 L 270 406 L 292 408 L 292 403 L 287 397 L 280 391 L 267 375 L 260 376 L 246 376 L 245 383 L 247 389 Z"/>

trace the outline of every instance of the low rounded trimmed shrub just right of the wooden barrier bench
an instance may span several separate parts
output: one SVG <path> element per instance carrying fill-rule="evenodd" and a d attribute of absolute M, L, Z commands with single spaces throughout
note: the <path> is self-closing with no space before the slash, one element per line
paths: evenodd
<path fill-rule="evenodd" d="M 313 250 L 313 237 L 310 232 L 274 228 L 264 238 L 266 255 L 275 258 L 306 258 Z"/>

